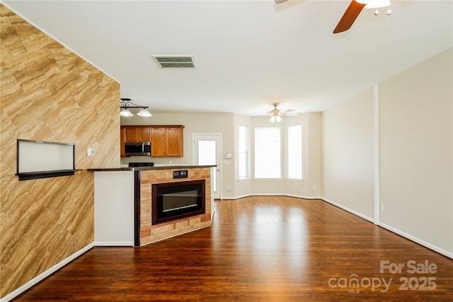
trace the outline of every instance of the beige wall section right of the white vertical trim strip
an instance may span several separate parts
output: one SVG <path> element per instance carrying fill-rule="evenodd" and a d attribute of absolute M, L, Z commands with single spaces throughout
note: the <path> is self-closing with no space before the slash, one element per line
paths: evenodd
<path fill-rule="evenodd" d="M 453 49 L 379 85 L 380 221 L 453 255 Z"/>

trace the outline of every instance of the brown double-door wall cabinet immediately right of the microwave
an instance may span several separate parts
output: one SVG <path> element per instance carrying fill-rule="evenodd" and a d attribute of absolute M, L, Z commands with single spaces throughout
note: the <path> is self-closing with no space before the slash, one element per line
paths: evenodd
<path fill-rule="evenodd" d="M 183 156 L 184 126 L 151 126 L 151 156 Z"/>

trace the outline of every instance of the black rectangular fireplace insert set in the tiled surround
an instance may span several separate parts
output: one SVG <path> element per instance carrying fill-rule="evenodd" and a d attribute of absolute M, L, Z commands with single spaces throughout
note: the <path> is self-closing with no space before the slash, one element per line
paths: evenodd
<path fill-rule="evenodd" d="M 152 185 L 152 224 L 205 214 L 205 180 Z"/>

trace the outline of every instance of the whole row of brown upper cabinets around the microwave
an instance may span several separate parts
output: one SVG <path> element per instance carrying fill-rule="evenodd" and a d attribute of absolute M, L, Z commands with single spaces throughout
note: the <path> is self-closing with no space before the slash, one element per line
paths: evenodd
<path fill-rule="evenodd" d="M 183 157 L 183 125 L 121 127 L 121 156 L 125 141 L 151 141 L 151 156 Z"/>

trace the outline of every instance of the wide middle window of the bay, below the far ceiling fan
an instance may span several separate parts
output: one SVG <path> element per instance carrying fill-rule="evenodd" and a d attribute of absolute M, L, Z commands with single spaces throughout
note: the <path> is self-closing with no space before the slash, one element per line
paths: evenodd
<path fill-rule="evenodd" d="M 255 178 L 281 178 L 280 128 L 255 129 Z"/>

